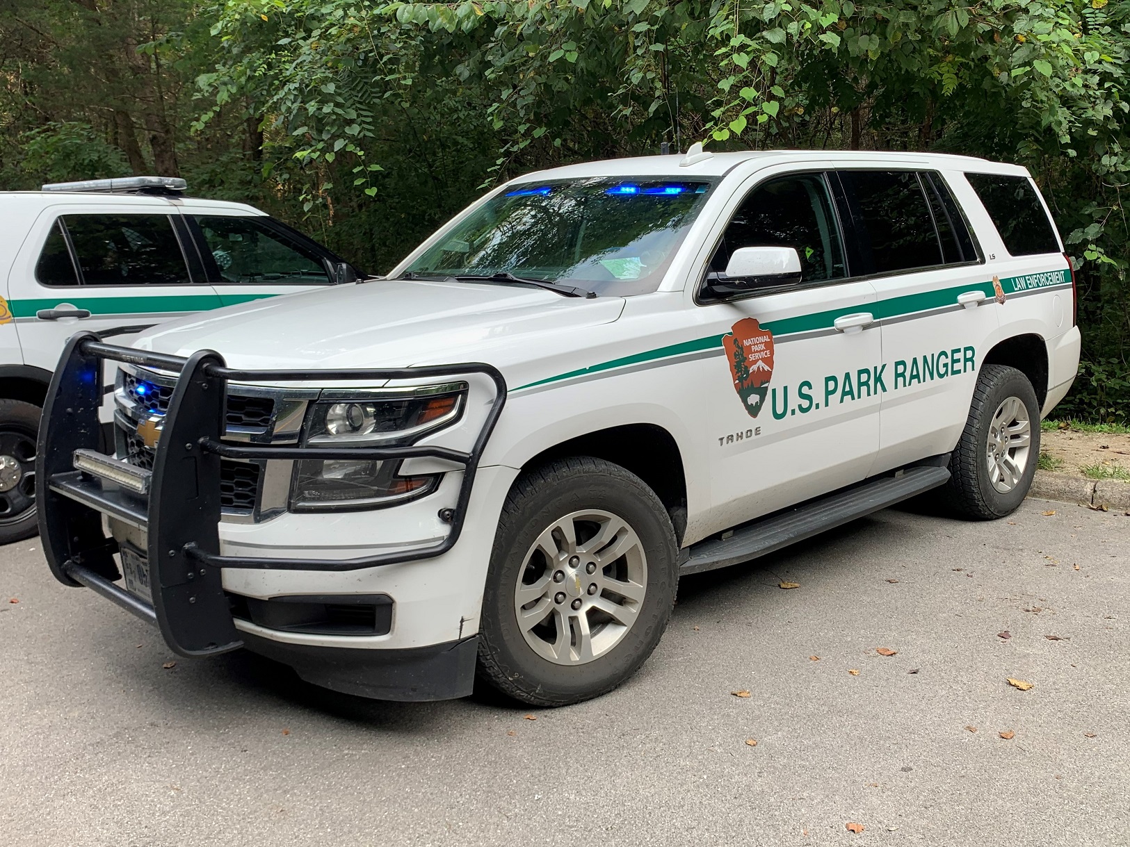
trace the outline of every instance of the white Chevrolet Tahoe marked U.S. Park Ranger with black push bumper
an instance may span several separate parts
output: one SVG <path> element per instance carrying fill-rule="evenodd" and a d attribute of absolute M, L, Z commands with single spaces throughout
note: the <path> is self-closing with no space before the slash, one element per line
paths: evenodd
<path fill-rule="evenodd" d="M 1017 508 L 1074 286 L 1012 165 L 696 146 L 530 174 L 385 279 L 72 338 L 44 550 L 181 655 L 576 702 L 649 656 L 683 574 L 931 489 Z"/>

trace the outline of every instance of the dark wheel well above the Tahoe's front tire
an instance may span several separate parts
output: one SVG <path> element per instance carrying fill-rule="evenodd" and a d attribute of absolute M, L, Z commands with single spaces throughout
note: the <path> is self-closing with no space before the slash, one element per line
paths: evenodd
<path fill-rule="evenodd" d="M 679 543 L 687 529 L 687 481 L 675 438 L 654 424 L 628 424 L 570 438 L 532 456 L 524 468 L 567 456 L 592 456 L 642 479 L 667 508 Z"/>

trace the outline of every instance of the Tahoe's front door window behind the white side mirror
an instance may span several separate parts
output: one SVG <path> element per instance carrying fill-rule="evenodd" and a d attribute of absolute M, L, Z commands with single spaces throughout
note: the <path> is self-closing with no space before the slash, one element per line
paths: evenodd
<path fill-rule="evenodd" d="M 791 174 L 754 189 L 727 226 L 710 271 L 725 272 L 730 254 L 740 247 L 794 247 L 801 282 L 847 276 L 823 174 Z"/>

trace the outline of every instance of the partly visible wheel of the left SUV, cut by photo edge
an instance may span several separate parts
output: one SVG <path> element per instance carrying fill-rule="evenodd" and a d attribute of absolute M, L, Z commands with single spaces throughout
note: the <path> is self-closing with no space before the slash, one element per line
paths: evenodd
<path fill-rule="evenodd" d="M 35 535 L 35 446 L 42 410 L 0 400 L 0 544 Z"/>

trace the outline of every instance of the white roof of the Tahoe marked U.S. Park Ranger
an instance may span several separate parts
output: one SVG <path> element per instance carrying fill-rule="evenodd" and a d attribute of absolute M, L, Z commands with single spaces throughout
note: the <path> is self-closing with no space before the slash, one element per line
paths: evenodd
<path fill-rule="evenodd" d="M 671 156 L 638 156 L 625 159 L 605 159 L 565 165 L 548 171 L 537 171 L 516 177 L 513 182 L 527 183 L 537 180 L 580 178 L 585 176 L 667 176 L 694 178 L 695 176 L 724 176 L 738 165 L 759 161 L 765 165 L 785 163 L 822 163 L 831 166 L 862 165 L 876 167 L 930 167 L 941 171 L 968 171 L 981 173 L 1027 174 L 1018 165 L 990 161 L 973 156 L 955 156 L 940 152 L 895 152 L 879 150 L 760 150 L 744 152 L 715 152 L 710 158 L 693 165 L 680 166 L 685 154 Z"/>

